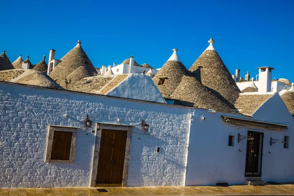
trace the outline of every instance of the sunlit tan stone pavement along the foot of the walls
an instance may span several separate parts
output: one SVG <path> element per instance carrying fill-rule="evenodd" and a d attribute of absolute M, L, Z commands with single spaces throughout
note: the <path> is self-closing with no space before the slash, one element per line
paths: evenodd
<path fill-rule="evenodd" d="M 105 188 L 108 192 L 98 192 Z M 175 196 L 175 195 L 293 195 L 294 184 L 263 186 L 201 186 L 201 187 L 79 187 L 0 189 L 0 196 Z"/>

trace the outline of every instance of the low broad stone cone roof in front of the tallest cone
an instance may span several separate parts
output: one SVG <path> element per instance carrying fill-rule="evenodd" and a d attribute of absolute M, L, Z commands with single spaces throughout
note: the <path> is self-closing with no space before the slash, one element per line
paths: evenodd
<path fill-rule="evenodd" d="M 221 99 L 215 96 L 207 87 L 203 86 L 192 74 L 182 77 L 181 82 L 172 93 L 171 98 L 180 100 L 181 105 L 212 109 L 221 112 L 234 112 L 231 107 L 224 104 Z"/>

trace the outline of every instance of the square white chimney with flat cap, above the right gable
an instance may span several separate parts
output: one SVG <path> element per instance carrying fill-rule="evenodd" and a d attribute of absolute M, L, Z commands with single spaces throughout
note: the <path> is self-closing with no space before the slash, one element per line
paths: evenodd
<path fill-rule="evenodd" d="M 273 68 L 271 67 L 260 67 L 258 73 L 258 92 L 266 94 L 271 91 L 271 72 Z"/>

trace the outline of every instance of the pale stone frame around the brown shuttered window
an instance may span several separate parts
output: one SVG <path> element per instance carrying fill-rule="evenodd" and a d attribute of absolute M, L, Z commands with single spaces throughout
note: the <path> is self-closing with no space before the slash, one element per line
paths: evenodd
<path fill-rule="evenodd" d="M 73 133 L 69 160 L 52 160 L 51 159 L 54 131 L 63 131 L 63 132 L 72 132 Z M 76 136 L 77 136 L 77 127 L 49 125 L 48 134 L 47 134 L 47 148 L 45 150 L 45 153 L 46 153 L 45 154 L 45 162 L 46 163 L 74 163 L 75 148 L 76 148 Z"/>

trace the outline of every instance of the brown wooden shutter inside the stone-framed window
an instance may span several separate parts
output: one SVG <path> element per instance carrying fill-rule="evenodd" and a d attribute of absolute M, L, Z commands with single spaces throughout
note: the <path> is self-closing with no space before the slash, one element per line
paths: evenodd
<path fill-rule="evenodd" d="M 51 160 L 70 160 L 73 132 L 54 131 Z"/>

